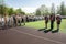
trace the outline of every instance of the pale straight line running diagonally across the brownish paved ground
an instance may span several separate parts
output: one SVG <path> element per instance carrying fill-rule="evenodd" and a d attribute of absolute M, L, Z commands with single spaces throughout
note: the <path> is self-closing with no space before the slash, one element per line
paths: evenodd
<path fill-rule="evenodd" d="M 12 29 L 11 29 L 11 30 L 12 30 Z M 18 30 L 12 30 L 12 31 L 15 31 L 15 32 L 19 32 L 19 33 L 22 33 L 22 34 L 26 34 L 26 35 L 30 35 L 30 36 L 34 36 L 34 37 L 37 37 L 37 38 L 46 40 L 46 41 L 50 41 L 50 42 L 54 42 L 54 43 L 58 43 L 58 44 L 65 44 L 65 43 L 59 42 L 59 41 L 54 41 L 54 40 L 51 40 L 51 38 L 46 38 L 46 37 L 33 35 L 33 34 L 25 33 L 25 32 L 21 32 L 21 31 L 18 31 Z"/>

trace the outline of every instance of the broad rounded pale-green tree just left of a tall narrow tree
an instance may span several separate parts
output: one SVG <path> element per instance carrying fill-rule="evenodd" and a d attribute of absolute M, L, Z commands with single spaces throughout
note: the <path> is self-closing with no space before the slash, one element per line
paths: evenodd
<path fill-rule="evenodd" d="M 38 15 L 50 14 L 48 8 L 47 8 L 46 6 L 41 6 L 41 7 L 36 10 L 36 14 L 38 14 Z"/>

